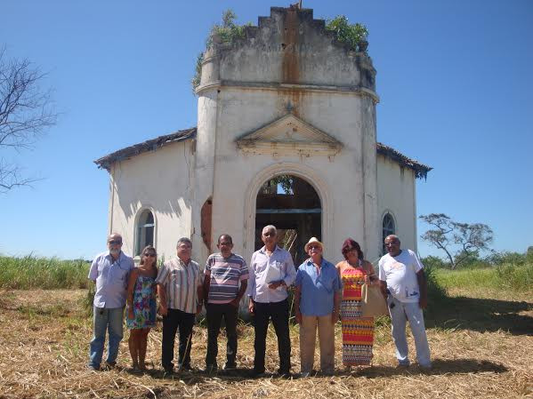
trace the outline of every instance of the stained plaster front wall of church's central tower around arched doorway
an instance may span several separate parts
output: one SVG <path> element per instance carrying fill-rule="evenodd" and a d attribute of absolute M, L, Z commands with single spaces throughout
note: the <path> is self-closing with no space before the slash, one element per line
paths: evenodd
<path fill-rule="evenodd" d="M 310 10 L 272 8 L 270 18 L 260 17 L 259 28 L 246 29 L 245 40 L 206 53 L 198 87 L 197 164 L 209 172 L 197 180 L 193 213 L 213 195 L 214 244 L 228 232 L 235 251 L 249 259 L 254 226 L 246 215 L 247 190 L 272 165 L 300 164 L 302 177 L 308 171 L 326 182 L 317 188 L 331 198 L 323 210 L 331 227 L 323 231 L 326 257 L 340 259 L 347 236 L 377 255 L 374 73 L 365 54 L 335 44 Z M 341 141 L 341 152 L 250 156 L 238 150 L 235 140 L 287 113 Z M 197 231 L 198 214 L 193 219 Z"/>

